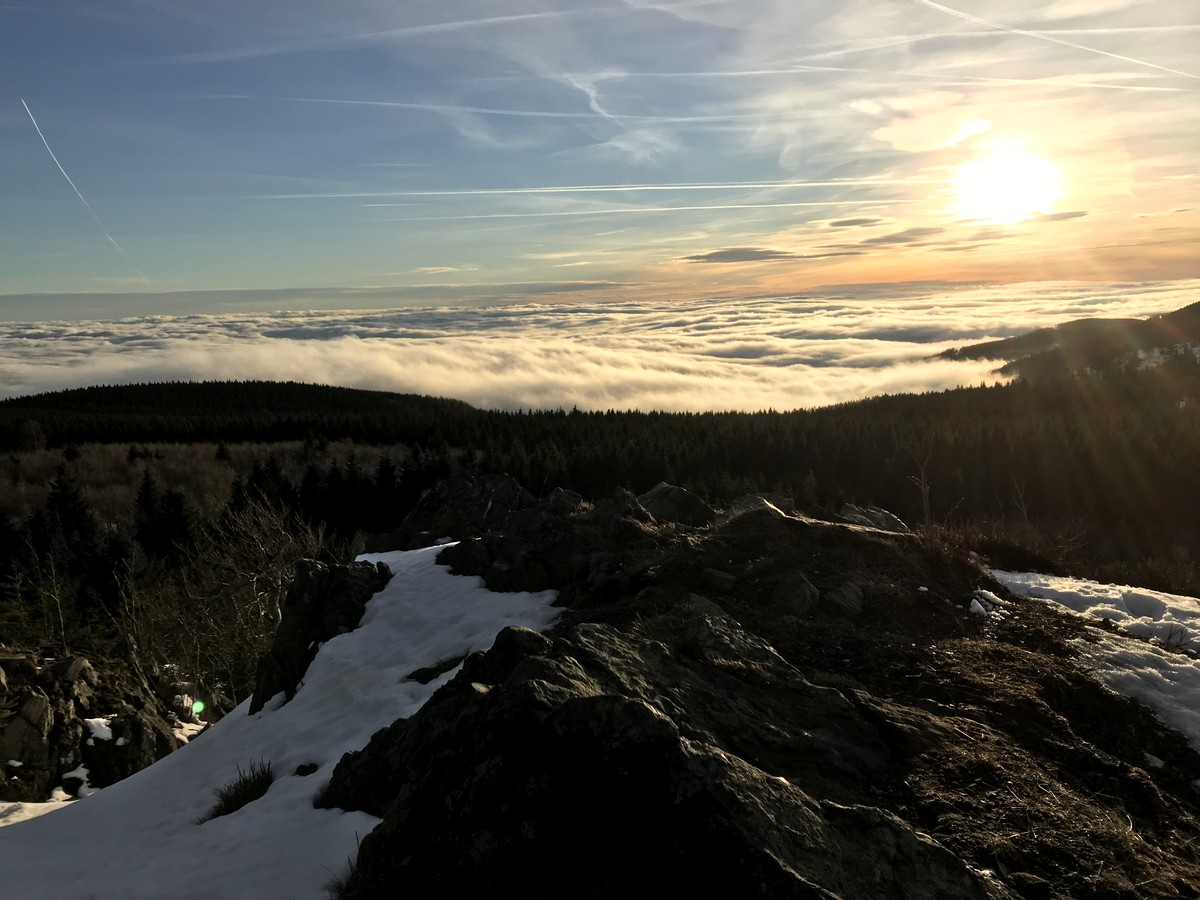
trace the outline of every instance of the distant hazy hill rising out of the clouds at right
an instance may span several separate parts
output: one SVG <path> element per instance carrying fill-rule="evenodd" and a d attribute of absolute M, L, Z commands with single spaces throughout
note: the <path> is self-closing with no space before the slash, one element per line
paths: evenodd
<path fill-rule="evenodd" d="M 947 359 L 1007 360 L 1001 372 L 1032 380 L 1146 365 L 1195 367 L 1200 302 L 1148 319 L 1075 319 L 1002 341 L 947 350 Z M 1147 364 L 1147 360 L 1150 361 Z"/>

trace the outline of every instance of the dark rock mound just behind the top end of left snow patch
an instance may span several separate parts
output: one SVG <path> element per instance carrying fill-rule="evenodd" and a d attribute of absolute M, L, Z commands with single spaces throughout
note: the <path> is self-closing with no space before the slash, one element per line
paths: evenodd
<path fill-rule="evenodd" d="M 442 538 L 502 532 L 515 512 L 534 503 L 511 475 L 452 475 L 421 494 L 401 526 L 401 545 L 412 550 Z"/>

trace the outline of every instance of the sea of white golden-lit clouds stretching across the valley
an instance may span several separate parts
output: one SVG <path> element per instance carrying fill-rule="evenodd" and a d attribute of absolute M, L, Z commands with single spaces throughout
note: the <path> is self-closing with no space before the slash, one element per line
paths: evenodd
<path fill-rule="evenodd" d="M 936 354 L 1084 317 L 1194 302 L 1200 281 L 856 286 L 692 302 L 0 323 L 0 396 L 92 384 L 269 379 L 480 407 L 794 409 L 998 380 Z"/>

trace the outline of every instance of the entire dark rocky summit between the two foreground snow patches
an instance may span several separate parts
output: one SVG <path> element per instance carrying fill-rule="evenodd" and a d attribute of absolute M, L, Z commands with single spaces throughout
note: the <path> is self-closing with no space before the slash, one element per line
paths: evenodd
<path fill-rule="evenodd" d="M 318 805 L 382 820 L 341 896 L 1200 896 L 1200 756 L 1090 676 L 1103 623 L 882 511 L 685 494 L 413 514 L 565 610 L 337 764 Z"/>

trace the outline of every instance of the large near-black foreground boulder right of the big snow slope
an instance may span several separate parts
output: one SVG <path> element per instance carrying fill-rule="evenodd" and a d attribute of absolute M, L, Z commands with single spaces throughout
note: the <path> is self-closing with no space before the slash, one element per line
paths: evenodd
<path fill-rule="evenodd" d="M 346 898 L 1003 896 L 864 805 L 890 764 L 854 703 L 685 602 L 502 632 L 322 803 L 384 817 Z"/>

